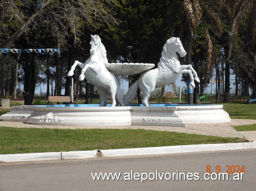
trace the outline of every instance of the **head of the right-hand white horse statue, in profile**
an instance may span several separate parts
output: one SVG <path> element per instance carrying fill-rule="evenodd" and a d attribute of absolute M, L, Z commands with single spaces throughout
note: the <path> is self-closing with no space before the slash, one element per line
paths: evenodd
<path fill-rule="evenodd" d="M 182 43 L 180 41 L 180 38 L 172 37 L 168 39 L 164 45 L 165 51 L 167 54 L 173 54 L 175 52 L 178 52 L 181 57 L 186 56 L 186 51 L 184 50 Z"/>

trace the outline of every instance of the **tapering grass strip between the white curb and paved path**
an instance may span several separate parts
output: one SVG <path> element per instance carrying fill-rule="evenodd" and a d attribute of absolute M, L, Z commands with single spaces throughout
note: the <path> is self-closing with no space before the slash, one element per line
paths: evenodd
<path fill-rule="evenodd" d="M 239 138 L 142 129 L 37 129 L 0 126 L 0 154 L 240 143 Z"/>

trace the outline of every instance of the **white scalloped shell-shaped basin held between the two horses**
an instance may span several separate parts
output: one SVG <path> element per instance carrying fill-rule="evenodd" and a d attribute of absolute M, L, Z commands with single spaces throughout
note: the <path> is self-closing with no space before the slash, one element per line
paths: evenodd
<path fill-rule="evenodd" d="M 115 75 L 129 76 L 150 70 L 155 65 L 148 63 L 107 63 L 105 66 Z"/>

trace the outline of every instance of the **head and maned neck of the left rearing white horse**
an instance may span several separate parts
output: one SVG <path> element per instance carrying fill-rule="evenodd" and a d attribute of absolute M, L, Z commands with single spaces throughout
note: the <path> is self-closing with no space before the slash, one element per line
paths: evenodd
<path fill-rule="evenodd" d="M 91 56 L 97 56 L 100 59 L 101 63 L 105 66 L 107 61 L 107 52 L 105 46 L 101 43 L 101 38 L 95 34 L 94 36 L 91 35 Z"/>

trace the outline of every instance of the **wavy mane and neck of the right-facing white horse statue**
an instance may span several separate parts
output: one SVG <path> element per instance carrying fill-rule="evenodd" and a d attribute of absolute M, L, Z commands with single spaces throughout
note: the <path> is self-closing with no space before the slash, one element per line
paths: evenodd
<path fill-rule="evenodd" d="M 174 64 L 174 67 L 172 67 L 172 71 L 174 73 L 178 73 L 178 66 L 176 65 L 176 61 L 178 61 L 176 52 L 173 51 L 173 46 L 178 46 L 181 45 L 182 43 L 180 41 L 180 38 L 176 37 L 171 37 L 166 41 L 166 43 L 163 46 L 163 51 L 161 53 L 162 57 L 160 58 L 160 61 L 158 62 L 158 68 L 159 68 L 159 74 L 158 76 L 171 64 Z M 172 62 L 174 60 L 174 63 Z"/>

